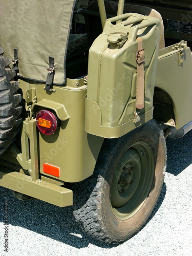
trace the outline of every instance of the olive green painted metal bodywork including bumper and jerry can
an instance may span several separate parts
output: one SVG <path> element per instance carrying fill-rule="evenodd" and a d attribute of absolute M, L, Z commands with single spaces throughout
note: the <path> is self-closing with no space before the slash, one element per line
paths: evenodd
<path fill-rule="evenodd" d="M 174 9 L 175 14 L 171 6 L 179 4 L 168 2 L 170 7 L 156 6 L 164 18 L 181 20 L 184 15 L 187 19 L 191 1 L 185 1 L 181 11 Z M 142 5 L 155 8 L 152 1 L 142 1 Z M 43 82 L 18 79 L 26 116 L 16 141 L 0 157 L 1 186 L 60 207 L 72 205 L 68 183 L 93 174 L 104 138 L 120 137 L 152 118 L 176 130 L 191 122 L 192 55 L 186 42 L 191 45 L 191 34 L 165 31 L 169 41 L 178 41 L 159 50 L 158 18 L 119 14 L 106 20 L 89 50 L 88 79 L 86 73 L 81 78 L 67 78 L 62 86 L 54 85 L 53 91 L 46 91 Z M 138 28 L 137 19 L 144 20 L 144 25 Z M 118 38 L 123 33 L 128 37 L 122 42 Z M 138 35 L 143 37 L 145 50 L 145 107 L 137 119 Z M 60 120 L 53 135 L 37 130 L 35 115 L 43 109 L 53 111 Z M 59 177 L 44 173 L 44 163 L 59 167 Z"/>

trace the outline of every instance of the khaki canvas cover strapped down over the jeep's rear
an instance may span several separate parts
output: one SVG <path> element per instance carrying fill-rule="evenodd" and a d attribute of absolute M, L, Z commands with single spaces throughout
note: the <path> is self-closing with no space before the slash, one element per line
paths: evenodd
<path fill-rule="evenodd" d="M 54 84 L 66 81 L 65 61 L 74 0 L 0 0 L 0 46 L 13 59 L 18 50 L 18 76 L 46 81 L 49 56 L 54 58 Z"/>

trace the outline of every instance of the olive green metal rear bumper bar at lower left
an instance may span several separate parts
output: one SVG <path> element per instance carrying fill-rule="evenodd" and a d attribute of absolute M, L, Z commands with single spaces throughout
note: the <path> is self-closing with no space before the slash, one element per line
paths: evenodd
<path fill-rule="evenodd" d="M 42 180 L 33 181 L 30 176 L 10 170 L 1 169 L 0 186 L 59 207 L 73 204 L 72 190 Z"/>

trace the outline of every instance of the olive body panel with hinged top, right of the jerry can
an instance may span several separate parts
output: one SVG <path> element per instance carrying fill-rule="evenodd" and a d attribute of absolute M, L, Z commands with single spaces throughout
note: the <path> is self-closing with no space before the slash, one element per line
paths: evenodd
<path fill-rule="evenodd" d="M 182 41 L 159 51 L 156 87 L 165 91 L 173 101 L 176 129 L 192 120 L 192 55 Z M 167 120 L 168 121 L 168 120 Z"/>

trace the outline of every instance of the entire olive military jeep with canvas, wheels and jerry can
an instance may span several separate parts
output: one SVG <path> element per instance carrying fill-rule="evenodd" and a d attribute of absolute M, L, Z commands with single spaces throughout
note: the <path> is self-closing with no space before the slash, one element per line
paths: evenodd
<path fill-rule="evenodd" d="M 191 130 L 192 1 L 1 1 L 0 185 L 117 244 Z"/>

